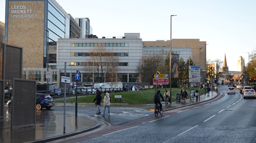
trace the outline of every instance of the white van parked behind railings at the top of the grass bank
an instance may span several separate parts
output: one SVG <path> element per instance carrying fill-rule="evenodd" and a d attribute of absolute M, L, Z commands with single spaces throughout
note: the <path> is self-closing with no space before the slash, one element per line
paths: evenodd
<path fill-rule="evenodd" d="M 123 82 L 104 82 L 100 88 L 102 89 L 102 91 L 123 91 Z"/>

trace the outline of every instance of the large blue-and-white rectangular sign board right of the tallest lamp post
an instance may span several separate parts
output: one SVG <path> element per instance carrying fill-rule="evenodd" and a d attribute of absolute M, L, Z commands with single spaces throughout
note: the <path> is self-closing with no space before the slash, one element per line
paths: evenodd
<path fill-rule="evenodd" d="M 200 82 L 200 66 L 189 66 L 189 82 Z"/>

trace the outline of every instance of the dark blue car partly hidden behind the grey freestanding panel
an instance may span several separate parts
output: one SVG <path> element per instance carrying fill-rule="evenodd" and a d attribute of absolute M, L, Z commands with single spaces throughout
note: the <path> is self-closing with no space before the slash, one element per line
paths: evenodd
<path fill-rule="evenodd" d="M 42 108 L 50 109 L 54 106 L 54 100 L 49 94 L 37 93 L 36 94 L 36 110 Z M 6 107 L 12 109 L 12 99 L 6 103 Z"/>

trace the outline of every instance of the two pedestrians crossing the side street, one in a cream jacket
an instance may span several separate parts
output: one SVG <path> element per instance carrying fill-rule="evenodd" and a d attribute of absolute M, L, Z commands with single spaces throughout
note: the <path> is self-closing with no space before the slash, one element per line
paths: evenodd
<path fill-rule="evenodd" d="M 96 103 L 95 103 L 97 105 L 96 113 L 100 113 L 100 103 L 103 101 L 104 110 L 103 110 L 103 113 L 101 115 L 105 116 L 106 108 L 108 108 L 107 116 L 110 116 L 110 94 L 107 93 L 107 91 L 104 91 L 103 93 L 104 93 L 104 99 L 102 100 L 102 98 L 101 98 L 102 93 L 97 89 L 96 90 L 96 97 L 92 102 L 96 101 Z"/>

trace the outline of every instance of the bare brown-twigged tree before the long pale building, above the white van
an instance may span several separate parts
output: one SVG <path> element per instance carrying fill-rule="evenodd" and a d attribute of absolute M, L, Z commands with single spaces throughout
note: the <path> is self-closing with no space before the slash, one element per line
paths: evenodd
<path fill-rule="evenodd" d="M 87 59 L 84 70 L 92 73 L 97 82 L 116 82 L 119 58 L 110 50 L 98 43 L 87 53 L 90 57 Z M 92 78 L 94 78 L 92 77 Z"/>

